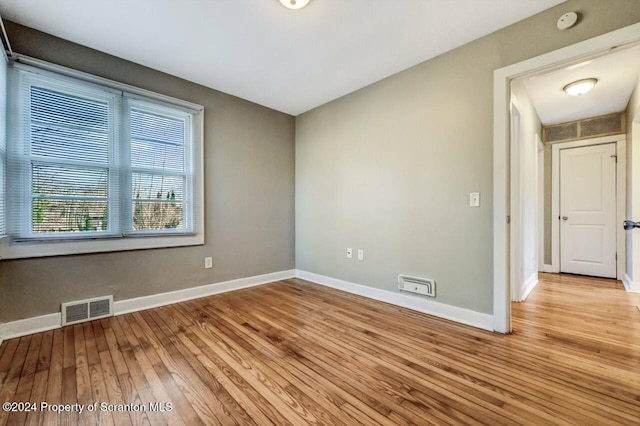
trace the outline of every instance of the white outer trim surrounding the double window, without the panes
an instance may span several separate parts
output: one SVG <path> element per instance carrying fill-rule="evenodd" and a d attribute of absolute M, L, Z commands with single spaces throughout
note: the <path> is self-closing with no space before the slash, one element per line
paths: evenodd
<path fill-rule="evenodd" d="M 127 84 L 93 76 L 91 74 L 75 71 L 66 67 L 29 58 L 18 56 L 18 64 L 15 66 L 29 68 L 30 71 L 42 75 L 55 75 L 56 77 L 70 77 L 86 83 L 99 85 L 107 90 L 115 90 L 126 93 L 131 99 L 138 98 L 147 102 L 169 104 L 172 107 L 182 108 L 193 113 L 191 126 L 191 151 L 190 161 L 193 174 L 191 176 L 190 191 L 193 200 L 189 205 L 193 209 L 190 213 L 192 229 L 185 233 L 163 232 L 130 232 L 127 230 L 122 235 L 109 235 L 97 238 L 96 235 L 69 235 L 60 238 L 33 238 L 16 239 L 4 238 L 0 240 L 0 258 L 17 259 L 29 257 L 57 256 L 70 254 L 101 253 L 112 251 L 139 250 L 150 248 L 180 247 L 204 244 L 204 107 L 191 102 L 182 101 L 165 95 L 139 89 Z M 10 91 L 12 89 L 9 89 Z M 10 92 L 11 93 L 11 92 Z M 8 141 L 10 145 L 10 141 Z M 126 145 L 126 144 L 125 144 Z M 7 146 L 10 150 L 10 146 Z M 4 190 L 5 188 L 3 188 Z M 8 188 L 6 188 L 8 189 Z M 127 192 L 127 191 L 125 191 Z M 124 197 L 121 192 L 120 197 Z M 187 206 L 185 200 L 185 206 Z M 11 211 L 7 211 L 8 230 L 11 231 Z M 124 227 L 123 227 L 124 228 Z M 93 237 L 93 238 L 92 238 Z"/>

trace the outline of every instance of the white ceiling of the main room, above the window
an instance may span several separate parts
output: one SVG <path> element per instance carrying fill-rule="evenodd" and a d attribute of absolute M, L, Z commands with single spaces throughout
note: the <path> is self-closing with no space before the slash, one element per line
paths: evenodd
<path fill-rule="evenodd" d="M 298 115 L 563 1 L 0 0 L 0 14 Z"/>

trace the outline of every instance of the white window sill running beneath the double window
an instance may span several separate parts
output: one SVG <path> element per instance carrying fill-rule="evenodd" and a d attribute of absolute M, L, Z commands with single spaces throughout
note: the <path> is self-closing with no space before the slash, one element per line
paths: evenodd
<path fill-rule="evenodd" d="M 204 244 L 204 234 L 180 236 L 136 236 L 134 238 L 105 238 L 90 241 L 11 242 L 0 239 L 0 259 L 65 256 L 73 254 L 108 253 L 151 248 L 184 247 Z"/>

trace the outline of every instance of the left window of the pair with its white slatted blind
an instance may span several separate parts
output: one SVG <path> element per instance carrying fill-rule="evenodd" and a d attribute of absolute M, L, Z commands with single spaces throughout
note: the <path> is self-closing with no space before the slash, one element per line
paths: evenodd
<path fill-rule="evenodd" d="M 115 93 L 12 70 L 11 233 L 17 238 L 117 235 Z M 13 139 L 13 138 L 12 138 Z"/>

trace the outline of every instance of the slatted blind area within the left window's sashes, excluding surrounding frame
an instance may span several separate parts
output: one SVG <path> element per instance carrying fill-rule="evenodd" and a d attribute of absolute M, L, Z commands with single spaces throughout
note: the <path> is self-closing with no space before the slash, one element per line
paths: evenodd
<path fill-rule="evenodd" d="M 114 231 L 113 99 L 70 92 L 31 84 L 25 99 L 31 169 L 24 171 L 31 180 L 31 200 L 23 200 L 31 204 L 27 234 Z"/>

